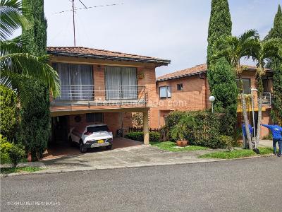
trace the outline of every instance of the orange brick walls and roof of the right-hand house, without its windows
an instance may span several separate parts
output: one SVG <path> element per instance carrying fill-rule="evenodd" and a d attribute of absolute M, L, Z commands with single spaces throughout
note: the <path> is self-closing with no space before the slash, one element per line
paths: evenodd
<path fill-rule="evenodd" d="M 206 73 L 203 74 L 202 71 L 206 71 Z M 178 73 L 181 75 L 178 76 Z M 189 74 L 190 76 L 185 76 Z M 266 83 L 265 92 L 272 92 L 273 83 L 271 80 L 271 73 L 267 73 L 266 76 L 268 76 L 269 79 Z M 243 72 L 243 78 L 250 79 L 251 88 L 256 88 L 255 70 L 253 68 L 250 67 L 249 71 Z M 178 84 L 183 85 L 183 90 L 177 90 Z M 161 99 L 159 97 L 159 88 L 161 86 L 171 86 L 171 98 Z M 204 65 L 177 71 L 176 73 L 169 73 L 157 78 L 156 90 L 158 94 L 158 107 L 156 107 L 155 110 L 151 110 L 153 112 L 150 112 L 149 114 L 151 127 L 154 128 L 163 126 L 166 116 L 172 111 L 206 110 L 211 107 L 211 103 L 209 102 L 210 90 L 207 81 L 207 66 Z M 257 111 L 257 93 L 254 92 L 253 94 L 255 111 Z M 262 124 L 271 124 L 270 111 L 271 106 L 263 106 Z M 238 123 L 240 122 L 242 121 L 238 110 Z M 267 134 L 269 134 L 268 129 L 262 127 L 262 136 L 266 136 Z"/>

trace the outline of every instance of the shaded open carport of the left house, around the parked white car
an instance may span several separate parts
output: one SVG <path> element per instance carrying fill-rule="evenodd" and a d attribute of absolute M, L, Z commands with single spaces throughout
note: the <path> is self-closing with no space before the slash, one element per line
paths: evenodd
<path fill-rule="evenodd" d="M 131 114 L 131 112 L 142 112 L 143 123 L 144 123 L 144 143 L 149 144 L 149 119 L 148 119 L 148 107 L 128 107 L 128 108 L 112 108 L 112 109 L 94 109 L 94 110 L 72 110 L 70 108 L 66 110 L 59 110 L 56 108 L 55 111 L 51 110 L 52 117 L 52 134 L 49 142 L 49 148 L 44 153 L 44 158 L 54 158 L 62 155 L 75 155 L 79 154 L 79 148 L 73 147 L 68 143 L 68 132 L 71 127 L 85 127 L 89 124 L 99 124 L 103 122 L 109 126 L 109 129 L 114 134 L 113 148 L 123 148 L 128 146 L 140 145 L 142 143 L 133 141 L 130 139 L 124 139 L 119 137 L 117 134 L 118 129 L 128 129 L 131 126 L 130 119 L 126 119 L 124 114 Z M 87 114 L 103 114 L 103 119 L 96 122 L 87 122 Z M 122 114 L 122 115 L 121 115 Z M 79 117 L 79 119 L 77 119 Z M 99 151 L 90 149 L 88 152 Z"/>

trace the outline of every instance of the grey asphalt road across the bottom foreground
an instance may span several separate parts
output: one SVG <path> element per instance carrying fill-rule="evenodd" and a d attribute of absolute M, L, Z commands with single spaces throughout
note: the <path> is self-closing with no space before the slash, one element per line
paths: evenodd
<path fill-rule="evenodd" d="M 1 179 L 1 211 L 282 211 L 282 158 Z"/>

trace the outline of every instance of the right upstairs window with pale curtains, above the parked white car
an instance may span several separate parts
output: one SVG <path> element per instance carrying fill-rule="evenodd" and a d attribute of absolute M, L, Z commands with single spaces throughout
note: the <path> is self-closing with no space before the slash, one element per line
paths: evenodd
<path fill-rule="evenodd" d="M 137 99 L 137 70 L 106 66 L 106 100 Z"/>

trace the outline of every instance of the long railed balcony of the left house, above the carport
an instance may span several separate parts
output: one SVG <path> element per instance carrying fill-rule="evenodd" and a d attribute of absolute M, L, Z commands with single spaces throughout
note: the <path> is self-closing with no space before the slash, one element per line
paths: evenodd
<path fill-rule="evenodd" d="M 145 86 L 61 85 L 61 96 L 51 105 L 146 106 Z"/>

